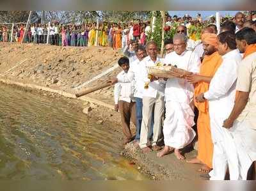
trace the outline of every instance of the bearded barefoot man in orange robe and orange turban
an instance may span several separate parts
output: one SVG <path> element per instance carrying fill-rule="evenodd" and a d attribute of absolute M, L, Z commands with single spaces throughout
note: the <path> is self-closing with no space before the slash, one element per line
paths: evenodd
<path fill-rule="evenodd" d="M 194 84 L 195 96 L 200 93 L 205 93 L 209 89 L 211 79 L 220 66 L 222 59 L 218 54 L 218 38 L 214 33 L 202 34 L 202 44 L 204 47 L 204 60 L 200 66 L 199 75 L 189 75 L 186 79 Z M 203 174 L 207 174 L 212 169 L 212 153 L 213 144 L 211 138 L 209 105 L 208 102 L 195 102 L 195 106 L 199 111 L 197 120 L 197 133 L 198 133 L 198 155 L 188 163 L 203 164 L 199 169 Z"/>

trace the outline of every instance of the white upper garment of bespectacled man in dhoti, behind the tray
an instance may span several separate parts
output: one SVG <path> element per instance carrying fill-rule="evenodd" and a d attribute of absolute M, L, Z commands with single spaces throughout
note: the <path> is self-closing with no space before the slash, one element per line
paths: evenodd
<path fill-rule="evenodd" d="M 187 70 L 193 73 L 199 73 L 200 57 L 191 50 L 185 50 L 182 54 L 170 52 L 166 54 L 164 63 L 167 65 L 176 65 L 177 68 Z M 185 79 L 172 78 L 168 79 L 165 88 L 165 100 L 190 103 L 194 94 L 194 87 Z"/>

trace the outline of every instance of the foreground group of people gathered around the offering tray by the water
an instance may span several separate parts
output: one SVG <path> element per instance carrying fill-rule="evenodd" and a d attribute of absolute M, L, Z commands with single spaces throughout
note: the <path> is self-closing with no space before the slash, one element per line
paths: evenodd
<path fill-rule="evenodd" d="M 165 40 L 165 56 L 157 43 L 129 43 L 118 65 L 115 111 L 120 111 L 124 144 L 145 154 L 170 153 L 184 160 L 184 148 L 198 139 L 198 155 L 210 180 L 256 180 L 256 27 L 238 12 L 218 33 L 205 26 L 201 41 L 189 47 L 188 29 L 180 25 Z M 218 33 L 218 34 L 217 34 Z M 186 70 L 173 78 L 148 76 L 147 67 L 172 65 Z M 130 123 L 136 125 L 132 135 Z M 196 125 L 195 125 L 196 124 Z"/>

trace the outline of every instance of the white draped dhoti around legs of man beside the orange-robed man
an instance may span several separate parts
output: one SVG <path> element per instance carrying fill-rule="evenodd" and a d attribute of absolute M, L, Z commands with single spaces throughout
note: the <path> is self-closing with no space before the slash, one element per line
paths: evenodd
<path fill-rule="evenodd" d="M 184 148 L 196 135 L 192 128 L 195 114 L 188 103 L 168 101 L 165 107 L 164 144 L 176 149 Z"/>

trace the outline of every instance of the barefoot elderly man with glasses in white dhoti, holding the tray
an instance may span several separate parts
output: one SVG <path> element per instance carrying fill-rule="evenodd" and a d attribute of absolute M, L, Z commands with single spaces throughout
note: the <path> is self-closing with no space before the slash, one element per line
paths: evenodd
<path fill-rule="evenodd" d="M 176 65 L 178 68 L 191 73 L 198 73 L 200 58 L 191 50 L 186 50 L 187 37 L 184 34 L 173 36 L 174 51 L 167 54 L 164 63 Z M 195 137 L 192 126 L 194 123 L 193 112 L 193 85 L 185 79 L 168 79 L 165 89 L 166 115 L 164 119 L 164 149 L 157 153 L 163 157 L 174 150 L 179 160 L 184 160 L 179 149 L 191 143 Z"/>

